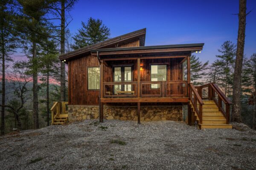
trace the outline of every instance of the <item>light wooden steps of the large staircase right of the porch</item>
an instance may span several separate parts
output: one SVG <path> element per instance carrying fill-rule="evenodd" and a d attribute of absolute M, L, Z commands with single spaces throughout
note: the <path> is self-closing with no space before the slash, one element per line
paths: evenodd
<path fill-rule="evenodd" d="M 196 114 L 195 109 L 189 101 L 191 107 L 192 116 L 198 124 L 199 129 L 232 129 L 231 124 L 227 124 L 227 120 L 224 115 L 219 111 L 218 106 L 214 101 L 204 101 L 202 124 L 200 124 L 199 116 Z"/>

